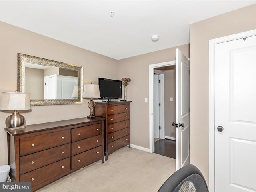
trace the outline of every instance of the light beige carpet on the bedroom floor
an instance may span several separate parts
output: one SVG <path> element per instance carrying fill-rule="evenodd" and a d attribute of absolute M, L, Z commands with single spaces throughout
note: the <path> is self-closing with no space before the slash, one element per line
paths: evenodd
<path fill-rule="evenodd" d="M 126 146 L 37 192 L 157 192 L 174 172 L 175 159 Z"/>

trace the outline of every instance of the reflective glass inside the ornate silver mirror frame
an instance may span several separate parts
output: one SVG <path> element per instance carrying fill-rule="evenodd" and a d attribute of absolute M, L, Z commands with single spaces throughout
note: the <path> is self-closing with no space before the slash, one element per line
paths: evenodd
<path fill-rule="evenodd" d="M 25 62 L 25 92 L 31 99 L 78 99 L 78 72 Z"/>

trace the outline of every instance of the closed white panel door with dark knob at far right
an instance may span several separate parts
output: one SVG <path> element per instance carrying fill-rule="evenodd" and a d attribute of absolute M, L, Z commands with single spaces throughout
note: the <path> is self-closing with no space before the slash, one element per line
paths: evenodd
<path fill-rule="evenodd" d="M 256 36 L 215 45 L 215 191 L 256 191 Z"/>

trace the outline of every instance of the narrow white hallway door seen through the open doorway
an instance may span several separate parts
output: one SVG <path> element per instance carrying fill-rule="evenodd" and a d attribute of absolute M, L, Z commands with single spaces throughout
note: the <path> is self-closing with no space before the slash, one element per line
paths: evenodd
<path fill-rule="evenodd" d="M 153 90 L 153 94 L 154 94 L 154 138 L 159 138 L 159 75 L 158 74 L 154 74 L 154 90 Z"/>

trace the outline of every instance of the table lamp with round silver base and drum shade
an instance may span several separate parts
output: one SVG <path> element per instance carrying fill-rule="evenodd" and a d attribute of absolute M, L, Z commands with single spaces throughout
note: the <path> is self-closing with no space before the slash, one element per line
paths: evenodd
<path fill-rule="evenodd" d="M 29 110 L 30 93 L 2 92 L 1 110 L 14 110 L 12 115 L 8 116 L 5 124 L 9 129 L 24 128 L 26 120 L 18 110 Z"/>

